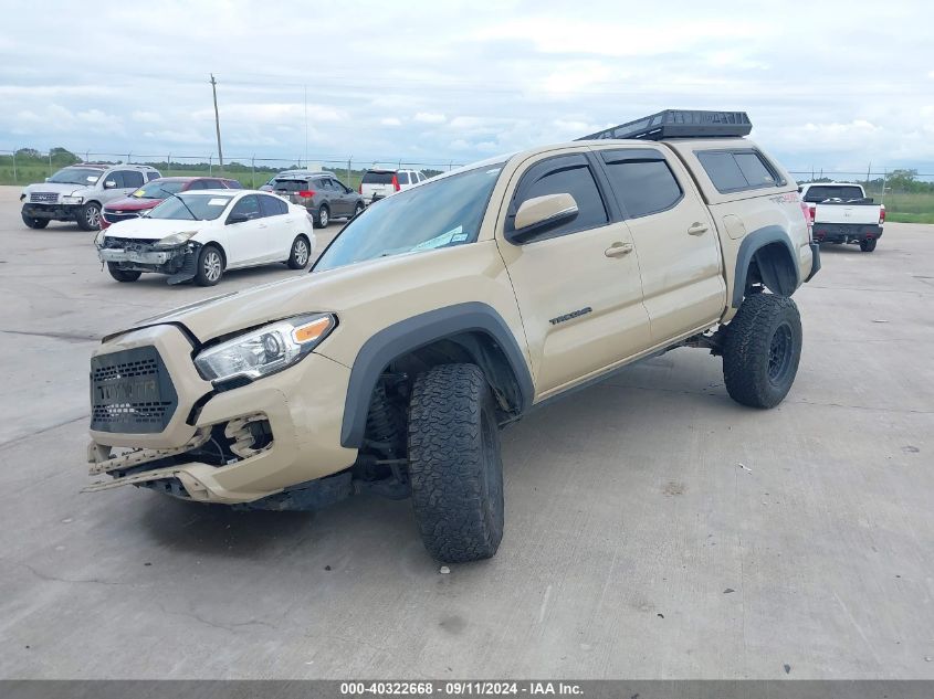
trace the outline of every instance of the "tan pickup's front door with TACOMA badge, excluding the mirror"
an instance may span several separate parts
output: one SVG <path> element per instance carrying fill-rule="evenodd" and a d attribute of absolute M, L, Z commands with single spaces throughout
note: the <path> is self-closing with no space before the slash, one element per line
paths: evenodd
<path fill-rule="evenodd" d="M 649 346 L 632 236 L 585 150 L 539 157 L 517 173 L 497 236 L 522 314 L 536 399 L 621 363 Z M 568 193 L 577 216 L 539 237 L 505 239 L 522 202 Z"/>

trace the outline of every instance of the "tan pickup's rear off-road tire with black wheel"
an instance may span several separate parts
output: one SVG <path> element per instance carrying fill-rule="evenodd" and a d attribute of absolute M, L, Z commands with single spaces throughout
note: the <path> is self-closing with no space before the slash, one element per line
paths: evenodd
<path fill-rule="evenodd" d="M 790 298 L 747 296 L 726 327 L 726 392 L 749 407 L 775 407 L 788 394 L 801 359 L 801 317 Z"/>

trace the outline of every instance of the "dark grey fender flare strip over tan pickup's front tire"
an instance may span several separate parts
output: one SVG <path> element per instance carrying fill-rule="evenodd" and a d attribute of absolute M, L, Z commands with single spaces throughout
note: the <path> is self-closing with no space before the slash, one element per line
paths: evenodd
<path fill-rule="evenodd" d="M 503 350 L 518 384 L 517 412 L 526 412 L 535 390 L 525 356 L 510 327 L 486 304 L 455 304 L 401 320 L 364 342 L 354 360 L 347 384 L 340 445 L 359 448 L 363 444 L 372 391 L 389 362 L 437 340 L 468 332 L 486 335 Z"/>

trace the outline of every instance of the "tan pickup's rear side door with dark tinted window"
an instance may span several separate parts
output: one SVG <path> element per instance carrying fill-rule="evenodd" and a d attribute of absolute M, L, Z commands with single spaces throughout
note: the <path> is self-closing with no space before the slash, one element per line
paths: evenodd
<path fill-rule="evenodd" d="M 652 345 L 715 322 L 726 306 L 720 242 L 684 166 L 651 146 L 596 152 L 632 232 Z"/>

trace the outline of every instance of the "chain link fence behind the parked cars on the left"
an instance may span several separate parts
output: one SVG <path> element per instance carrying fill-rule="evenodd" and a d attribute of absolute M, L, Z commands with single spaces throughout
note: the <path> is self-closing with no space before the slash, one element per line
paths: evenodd
<path fill-rule="evenodd" d="M 463 163 L 453 160 L 427 161 L 423 158 L 388 157 L 379 159 L 364 159 L 347 156 L 338 158 L 334 155 L 318 157 L 256 157 L 229 156 L 221 167 L 214 153 L 191 156 L 175 152 L 101 152 L 95 150 L 70 151 L 53 148 L 41 152 L 31 148 L 18 150 L 0 150 L 0 184 L 30 184 L 41 182 L 51 177 L 56 170 L 76 162 L 136 163 L 153 166 L 164 177 L 172 176 L 220 176 L 237 179 L 246 188 L 255 188 L 267 182 L 282 170 L 328 170 L 344 180 L 348 187 L 357 188 L 363 172 L 370 167 L 408 168 L 422 170 L 426 174 L 447 172 Z"/>

